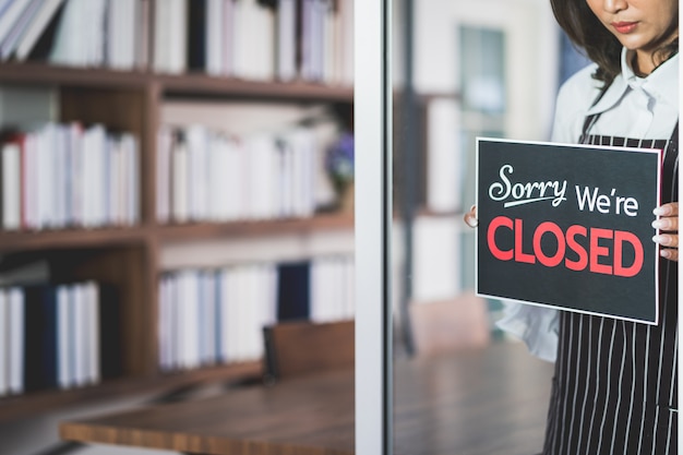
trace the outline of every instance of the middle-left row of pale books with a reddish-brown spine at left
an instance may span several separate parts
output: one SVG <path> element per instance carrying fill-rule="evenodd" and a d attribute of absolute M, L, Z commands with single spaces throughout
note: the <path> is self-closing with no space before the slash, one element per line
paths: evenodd
<path fill-rule="evenodd" d="M 0 140 L 2 228 L 133 225 L 140 217 L 137 139 L 100 124 L 47 123 Z"/>

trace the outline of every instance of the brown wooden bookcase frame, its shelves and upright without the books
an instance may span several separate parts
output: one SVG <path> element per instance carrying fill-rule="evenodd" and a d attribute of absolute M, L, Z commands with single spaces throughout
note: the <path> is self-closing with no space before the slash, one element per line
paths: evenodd
<path fill-rule="evenodd" d="M 59 279 L 97 279 L 120 289 L 123 375 L 97 385 L 0 397 L 0 421 L 137 393 L 164 392 L 201 381 L 231 381 L 261 374 L 261 362 L 229 363 L 165 373 L 158 367 L 157 280 L 166 242 L 239 239 L 283 232 L 314 235 L 351 230 L 350 214 L 238 223 L 159 224 L 156 220 L 156 132 L 166 99 L 323 103 L 352 112 L 354 91 L 316 83 L 254 82 L 206 74 L 158 74 L 45 62 L 0 62 L 4 87 L 56 89 L 59 121 L 99 122 L 134 133 L 140 141 L 140 221 L 134 226 L 0 231 L 0 253 L 16 260 L 45 259 Z M 343 121 L 350 123 L 349 119 Z"/>

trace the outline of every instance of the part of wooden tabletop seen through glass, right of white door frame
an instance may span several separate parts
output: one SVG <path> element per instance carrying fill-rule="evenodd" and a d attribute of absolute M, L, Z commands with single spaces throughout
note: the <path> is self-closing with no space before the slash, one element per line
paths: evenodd
<path fill-rule="evenodd" d="M 394 454 L 538 454 L 552 370 L 508 343 L 398 363 Z"/>

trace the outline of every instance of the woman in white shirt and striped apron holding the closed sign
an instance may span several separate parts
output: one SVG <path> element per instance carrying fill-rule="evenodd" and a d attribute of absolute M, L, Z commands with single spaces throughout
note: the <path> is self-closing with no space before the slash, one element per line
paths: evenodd
<path fill-rule="evenodd" d="M 544 455 L 678 450 L 678 0 L 551 0 L 595 64 L 558 96 L 552 141 L 664 151 L 657 326 L 508 304 L 500 325 L 555 361 Z M 476 224 L 474 209 L 466 221 Z"/>

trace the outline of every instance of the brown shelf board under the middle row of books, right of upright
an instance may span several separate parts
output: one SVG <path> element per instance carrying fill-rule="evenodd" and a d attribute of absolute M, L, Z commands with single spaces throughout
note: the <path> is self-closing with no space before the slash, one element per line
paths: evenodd
<path fill-rule="evenodd" d="M 199 238 L 251 237 L 288 232 L 310 234 L 331 229 L 351 229 L 352 227 L 352 214 L 334 213 L 316 215 L 311 218 L 164 225 L 158 226 L 157 231 L 163 241 L 183 241 Z"/>

